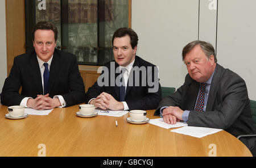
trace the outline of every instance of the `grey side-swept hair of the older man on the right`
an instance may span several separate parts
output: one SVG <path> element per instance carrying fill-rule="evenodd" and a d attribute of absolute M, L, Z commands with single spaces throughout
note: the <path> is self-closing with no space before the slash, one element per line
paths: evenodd
<path fill-rule="evenodd" d="M 211 55 L 214 56 L 214 62 L 217 62 L 217 57 L 215 54 L 215 50 L 212 46 L 212 44 L 206 42 L 206 41 L 200 41 L 200 40 L 195 40 L 192 41 L 191 43 L 188 43 L 182 50 L 182 60 L 184 61 L 184 58 L 186 54 L 191 51 L 196 45 L 200 45 L 201 49 L 203 50 L 204 54 L 207 56 L 209 59 Z"/>

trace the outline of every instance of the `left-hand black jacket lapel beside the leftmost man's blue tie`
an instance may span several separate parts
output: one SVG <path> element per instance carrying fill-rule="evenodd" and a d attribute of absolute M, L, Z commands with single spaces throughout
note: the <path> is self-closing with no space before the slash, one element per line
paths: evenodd
<path fill-rule="evenodd" d="M 31 53 L 30 55 L 30 61 L 29 66 L 31 67 L 31 70 L 33 73 L 31 73 L 31 81 L 34 82 L 34 85 L 36 88 L 40 89 L 40 93 L 43 94 L 43 85 L 42 85 L 42 76 L 39 68 L 38 59 L 36 57 L 35 51 Z"/>

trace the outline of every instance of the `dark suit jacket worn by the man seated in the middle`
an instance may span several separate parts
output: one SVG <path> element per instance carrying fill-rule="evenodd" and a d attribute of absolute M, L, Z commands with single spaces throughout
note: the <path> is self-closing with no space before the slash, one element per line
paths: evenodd
<path fill-rule="evenodd" d="M 112 62 L 112 63 L 111 63 Z M 110 65 L 114 65 L 113 67 L 110 68 Z M 87 103 L 90 99 L 96 98 L 98 95 L 100 95 L 102 92 L 111 94 L 114 99 L 119 101 L 119 87 L 115 83 L 115 79 L 118 77 L 120 73 L 115 73 L 115 69 L 118 68 L 118 64 L 114 61 L 107 62 L 102 70 L 101 75 L 104 75 L 108 78 L 108 86 L 99 86 L 98 82 L 95 82 L 92 87 L 90 87 L 86 93 L 86 100 L 85 102 Z M 159 83 L 159 78 L 158 78 L 158 73 L 154 75 L 154 68 L 156 68 L 155 65 L 151 64 L 150 62 L 147 62 L 143 60 L 142 58 L 135 56 L 135 61 L 133 68 L 137 66 L 137 68 L 145 67 L 147 74 L 152 74 L 149 75 L 142 75 L 140 72 L 139 78 L 135 77 L 135 71 L 133 72 L 133 75 L 129 75 L 128 79 L 128 86 L 126 88 L 126 96 L 125 96 L 125 102 L 127 103 L 129 110 L 134 110 L 134 109 L 140 109 L 140 110 L 149 110 L 149 109 L 155 109 L 161 99 L 161 86 Z M 150 68 L 148 68 L 150 67 Z M 118 68 L 119 71 L 119 68 Z M 138 72 L 138 71 L 137 71 Z M 158 71 L 157 71 L 158 72 Z M 112 75 L 112 77 L 111 77 Z M 101 79 L 101 76 L 98 78 Z M 154 86 L 148 85 L 147 80 L 150 79 L 151 81 L 156 80 L 158 83 L 158 88 L 156 89 L 155 93 L 150 93 L 148 92 L 148 89 L 152 89 Z M 129 81 L 133 80 L 132 85 L 129 85 Z M 137 80 L 137 81 L 135 81 Z M 139 80 L 139 86 L 135 85 L 135 82 L 138 82 Z M 101 80 L 100 80 L 101 81 Z M 105 81 L 102 80 L 102 81 Z M 114 82 L 113 85 L 110 85 L 111 82 Z M 143 82 L 146 83 L 146 85 L 143 85 Z"/>

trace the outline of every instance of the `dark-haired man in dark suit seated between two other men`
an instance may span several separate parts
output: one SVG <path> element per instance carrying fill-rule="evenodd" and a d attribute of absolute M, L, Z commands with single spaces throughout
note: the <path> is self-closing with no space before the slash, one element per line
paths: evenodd
<path fill-rule="evenodd" d="M 119 28 L 112 38 L 114 61 L 107 62 L 86 102 L 103 110 L 155 109 L 161 99 L 158 68 L 136 56 L 138 36 Z"/>

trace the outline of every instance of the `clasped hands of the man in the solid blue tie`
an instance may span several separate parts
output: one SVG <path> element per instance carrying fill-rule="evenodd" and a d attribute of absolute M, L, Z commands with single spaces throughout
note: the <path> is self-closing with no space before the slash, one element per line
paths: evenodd
<path fill-rule="evenodd" d="M 59 98 L 50 98 L 49 94 L 38 95 L 35 99 L 27 100 L 27 107 L 34 108 L 35 110 L 47 110 L 61 106 Z"/>

